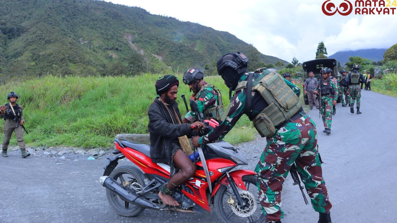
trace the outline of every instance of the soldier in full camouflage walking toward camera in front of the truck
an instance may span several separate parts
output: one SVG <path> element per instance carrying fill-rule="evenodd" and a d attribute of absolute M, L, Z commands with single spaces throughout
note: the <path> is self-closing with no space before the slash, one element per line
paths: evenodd
<path fill-rule="evenodd" d="M 338 98 L 338 88 L 333 84 L 330 74 L 332 69 L 321 68 L 322 79 L 318 81 L 314 94 L 320 96 L 320 113 L 324 123 L 324 133 L 331 134 L 332 106 L 336 104 Z"/>

